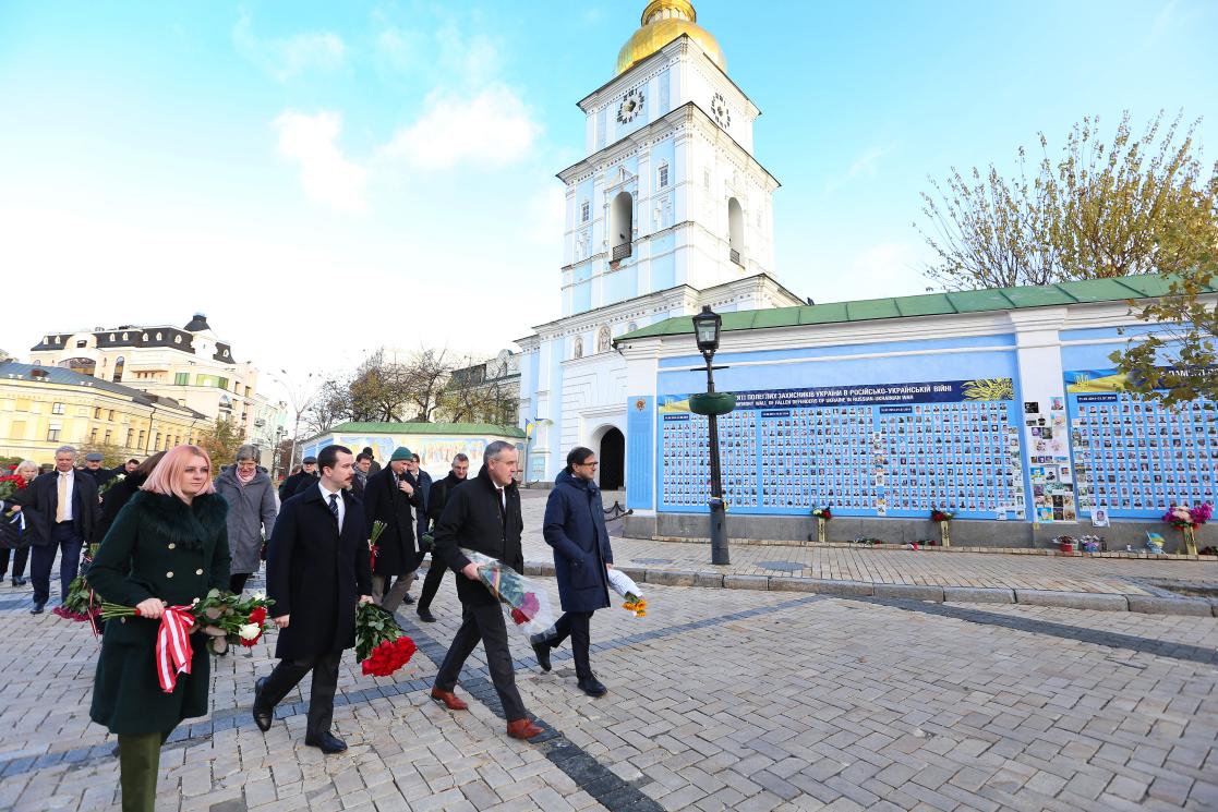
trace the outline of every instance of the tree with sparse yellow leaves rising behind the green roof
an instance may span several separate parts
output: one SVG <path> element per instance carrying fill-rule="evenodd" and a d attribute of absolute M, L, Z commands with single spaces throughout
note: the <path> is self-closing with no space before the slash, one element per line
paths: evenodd
<path fill-rule="evenodd" d="M 946 185 L 923 194 L 929 225 L 916 228 L 938 254 L 927 275 L 948 290 L 1044 285 L 1069 279 L 1174 274 L 1199 248 L 1214 245 L 1218 164 L 1205 177 L 1194 155 L 1194 122 L 1166 128 L 1161 112 L 1145 134 L 1122 116 L 1111 142 L 1100 119 L 1084 118 L 1060 158 L 1049 155 L 1029 177 L 1023 147 L 1015 178 L 952 169 Z"/>

